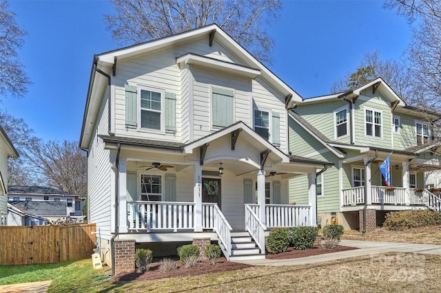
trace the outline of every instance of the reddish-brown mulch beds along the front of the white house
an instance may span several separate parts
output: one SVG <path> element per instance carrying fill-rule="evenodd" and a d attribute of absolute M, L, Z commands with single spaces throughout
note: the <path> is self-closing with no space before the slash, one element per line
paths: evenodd
<path fill-rule="evenodd" d="M 337 246 L 333 250 L 327 250 L 321 248 L 316 245 L 314 248 L 309 248 L 305 250 L 295 250 L 294 248 L 289 248 L 288 251 L 282 252 L 279 254 L 267 254 L 267 259 L 296 259 L 298 257 L 309 257 L 311 255 L 324 254 L 329 252 L 338 252 L 345 250 L 356 249 L 348 246 Z M 168 257 L 174 259 L 176 266 L 178 267 L 176 270 L 172 272 L 161 272 L 159 270 L 159 261 L 161 259 L 154 259 L 153 263 L 150 263 L 149 270 L 145 273 L 140 272 L 132 272 L 129 274 L 118 274 L 114 276 L 116 281 L 149 281 L 156 279 L 164 279 L 171 278 L 176 276 L 197 276 L 200 274 L 209 274 L 212 272 L 228 272 L 232 270 L 242 270 L 245 268 L 249 268 L 252 265 L 245 265 L 243 263 L 234 263 L 231 261 L 227 261 L 224 257 L 218 259 L 218 263 L 215 265 L 210 265 L 209 261 L 202 261 L 201 266 L 198 268 L 184 268 L 181 261 L 177 259 L 177 257 Z"/>

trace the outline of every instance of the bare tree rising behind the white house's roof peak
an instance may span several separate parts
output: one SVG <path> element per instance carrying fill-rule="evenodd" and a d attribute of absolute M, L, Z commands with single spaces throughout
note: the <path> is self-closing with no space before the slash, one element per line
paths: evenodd
<path fill-rule="evenodd" d="M 280 0 L 112 0 L 106 14 L 114 39 L 132 45 L 216 23 L 260 61 L 271 63 L 274 41 L 265 26 L 278 19 Z"/>

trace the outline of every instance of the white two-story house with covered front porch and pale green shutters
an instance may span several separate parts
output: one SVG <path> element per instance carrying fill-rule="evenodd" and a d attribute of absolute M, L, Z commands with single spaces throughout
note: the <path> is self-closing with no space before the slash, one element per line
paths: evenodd
<path fill-rule="evenodd" d="M 329 163 L 288 152 L 287 107 L 301 100 L 217 25 L 94 56 L 80 146 L 101 250 L 174 254 L 207 237 L 227 259 L 265 257 L 269 228 L 316 225 Z M 288 197 L 298 176 L 303 206 Z"/>

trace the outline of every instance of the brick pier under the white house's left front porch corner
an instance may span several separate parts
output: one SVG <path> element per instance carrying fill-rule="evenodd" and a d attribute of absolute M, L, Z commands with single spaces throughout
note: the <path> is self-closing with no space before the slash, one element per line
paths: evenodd
<path fill-rule="evenodd" d="M 135 270 L 135 241 L 115 240 L 115 274 L 134 272 Z"/>

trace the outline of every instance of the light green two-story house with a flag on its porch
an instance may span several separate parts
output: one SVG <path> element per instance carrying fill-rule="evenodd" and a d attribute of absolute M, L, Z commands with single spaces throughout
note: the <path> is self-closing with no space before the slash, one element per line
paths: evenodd
<path fill-rule="evenodd" d="M 440 212 L 440 199 L 424 189 L 424 175 L 441 167 L 432 133 L 441 116 L 407 106 L 382 78 L 305 99 L 289 117 L 291 153 L 334 163 L 316 179 L 318 224 L 334 216 L 346 229 L 370 230 L 393 210 Z M 378 170 L 389 154 L 390 187 Z M 290 180 L 289 202 L 308 202 L 302 186 L 304 179 Z"/>

